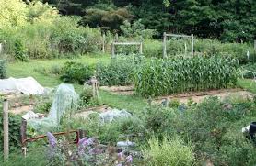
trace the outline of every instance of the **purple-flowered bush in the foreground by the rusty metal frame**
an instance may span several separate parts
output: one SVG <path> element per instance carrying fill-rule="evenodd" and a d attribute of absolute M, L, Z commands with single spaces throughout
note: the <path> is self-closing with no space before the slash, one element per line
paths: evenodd
<path fill-rule="evenodd" d="M 48 132 L 49 157 L 51 163 L 64 165 L 116 165 L 131 166 L 132 155 L 125 155 L 124 151 L 117 153 L 111 146 L 100 145 L 96 138 L 82 138 L 77 145 L 66 139 L 57 138 Z"/>

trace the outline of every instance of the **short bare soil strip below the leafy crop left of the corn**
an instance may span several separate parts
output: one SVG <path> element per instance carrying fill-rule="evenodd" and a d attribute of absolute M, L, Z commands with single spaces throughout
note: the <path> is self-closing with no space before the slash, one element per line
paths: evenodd
<path fill-rule="evenodd" d="M 100 86 L 100 89 L 113 94 L 131 95 L 134 94 L 134 85 L 130 86 Z"/>

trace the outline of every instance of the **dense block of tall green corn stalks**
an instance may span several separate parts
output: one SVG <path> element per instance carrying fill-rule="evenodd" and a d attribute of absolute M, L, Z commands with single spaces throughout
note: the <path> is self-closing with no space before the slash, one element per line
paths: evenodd
<path fill-rule="evenodd" d="M 135 70 L 135 91 L 142 96 L 159 96 L 227 88 L 236 84 L 237 68 L 238 61 L 219 56 L 151 59 Z"/>

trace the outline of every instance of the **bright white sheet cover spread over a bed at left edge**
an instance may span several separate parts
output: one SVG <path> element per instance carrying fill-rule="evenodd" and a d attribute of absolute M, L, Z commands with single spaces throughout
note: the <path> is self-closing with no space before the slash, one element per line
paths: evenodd
<path fill-rule="evenodd" d="M 0 79 L 0 94 L 43 94 L 44 88 L 33 77 Z"/>

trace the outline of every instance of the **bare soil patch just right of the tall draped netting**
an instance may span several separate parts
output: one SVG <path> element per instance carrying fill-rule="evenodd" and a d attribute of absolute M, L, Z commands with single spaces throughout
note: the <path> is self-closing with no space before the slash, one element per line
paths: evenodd
<path fill-rule="evenodd" d="M 73 117 L 75 117 L 75 118 L 87 118 L 87 116 L 89 116 L 92 113 L 103 113 L 103 112 L 109 111 L 111 109 L 112 108 L 108 105 L 100 105 L 100 106 L 80 110 Z"/>

